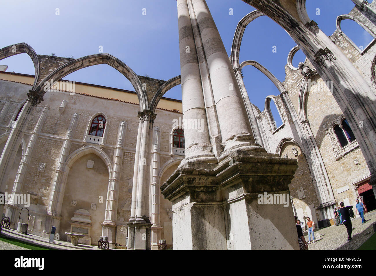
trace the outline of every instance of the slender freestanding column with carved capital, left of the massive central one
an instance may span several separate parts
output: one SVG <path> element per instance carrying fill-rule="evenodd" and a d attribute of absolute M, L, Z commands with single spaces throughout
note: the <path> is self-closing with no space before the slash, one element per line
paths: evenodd
<path fill-rule="evenodd" d="M 152 110 L 144 110 L 138 113 L 138 117 L 140 118 L 139 124 L 141 125 L 141 130 L 139 125 L 135 157 L 135 161 L 138 158 L 138 162 L 135 162 L 135 169 L 137 166 L 138 171 L 135 171 L 133 175 L 131 217 L 127 223 L 129 227 L 128 249 L 132 250 L 150 249 L 150 227 L 152 223 L 149 220 L 150 174 L 147 172 L 150 168 L 150 133 L 153 129 L 155 116 L 156 114 Z"/>

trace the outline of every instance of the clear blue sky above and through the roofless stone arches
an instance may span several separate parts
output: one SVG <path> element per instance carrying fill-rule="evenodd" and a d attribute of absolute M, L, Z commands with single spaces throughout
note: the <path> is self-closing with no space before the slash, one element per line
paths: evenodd
<path fill-rule="evenodd" d="M 238 22 L 254 8 L 241 0 L 206 2 L 230 55 Z M 307 0 L 306 5 L 309 17 L 328 36 L 336 29 L 337 16 L 348 14 L 355 6 L 351 0 Z M 1 7 L 0 48 L 26 42 L 37 54 L 78 58 L 99 53 L 99 47 L 103 46 L 104 53 L 121 59 L 138 75 L 168 80 L 180 74 L 174 0 L 1 0 Z M 143 15 L 144 8 L 146 15 Z M 230 8 L 233 15 L 229 14 Z M 343 21 L 342 30 L 357 45 L 365 47 L 370 36 L 352 23 Z M 240 62 L 256 60 L 283 81 L 287 55 L 295 45 L 282 27 L 267 17 L 260 17 L 249 24 L 244 33 Z M 276 53 L 272 52 L 273 46 L 277 47 Z M 299 51 L 293 63 L 297 65 L 304 60 L 304 54 Z M 33 64 L 26 54 L 1 60 L 0 64 L 8 65 L 10 72 L 34 74 Z M 263 110 L 265 97 L 277 95 L 278 90 L 252 66 L 246 66 L 243 75 L 251 102 Z M 130 82 L 108 65 L 81 69 L 65 79 L 133 90 Z M 165 97 L 181 100 L 180 89 L 180 86 L 171 89 Z M 278 122 L 278 118 L 275 119 Z"/>

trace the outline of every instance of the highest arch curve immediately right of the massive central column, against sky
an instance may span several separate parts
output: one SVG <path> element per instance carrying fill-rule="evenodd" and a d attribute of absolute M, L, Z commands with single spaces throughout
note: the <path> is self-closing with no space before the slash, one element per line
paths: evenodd
<path fill-rule="evenodd" d="M 240 68 L 239 65 L 239 55 L 240 55 L 240 45 L 243 39 L 244 31 L 249 23 L 251 23 L 256 18 L 263 16 L 264 14 L 258 10 L 250 12 L 245 17 L 243 17 L 235 30 L 235 35 L 232 41 L 231 56 L 230 61 L 233 69 Z"/>

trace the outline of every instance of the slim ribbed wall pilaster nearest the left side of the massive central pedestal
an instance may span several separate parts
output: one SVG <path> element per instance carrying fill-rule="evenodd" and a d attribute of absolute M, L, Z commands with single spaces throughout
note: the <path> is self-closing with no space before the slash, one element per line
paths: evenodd
<path fill-rule="evenodd" d="M 150 222 L 153 224 L 151 228 L 151 249 L 158 250 L 158 242 L 161 239 L 162 227 L 159 225 L 159 208 L 161 190 L 159 185 L 159 144 L 161 141 L 159 127 L 154 127 L 153 147 L 152 147 L 152 181 L 150 184 L 151 191 L 151 213 Z"/>

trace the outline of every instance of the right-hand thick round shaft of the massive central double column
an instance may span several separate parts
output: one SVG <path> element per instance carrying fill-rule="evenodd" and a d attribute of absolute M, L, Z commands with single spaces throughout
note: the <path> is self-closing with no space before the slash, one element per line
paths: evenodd
<path fill-rule="evenodd" d="M 255 144 L 237 79 L 205 0 L 188 1 L 188 7 L 200 32 L 224 151 L 240 147 L 265 151 Z"/>

